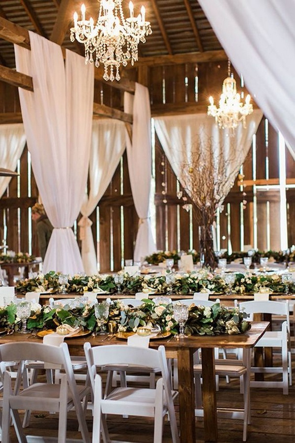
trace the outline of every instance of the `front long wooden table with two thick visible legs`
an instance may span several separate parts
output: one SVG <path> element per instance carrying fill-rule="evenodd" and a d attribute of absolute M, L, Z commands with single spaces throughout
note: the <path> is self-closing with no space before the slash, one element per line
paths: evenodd
<path fill-rule="evenodd" d="M 177 353 L 178 390 L 179 390 L 179 424 L 181 443 L 196 441 L 195 431 L 195 390 L 193 372 L 193 354 L 201 348 L 203 369 L 204 431 L 205 441 L 216 442 L 217 409 L 214 369 L 214 347 L 252 348 L 266 331 L 268 322 L 253 322 L 250 331 L 239 335 L 192 336 L 183 339 L 153 340 L 150 347 L 157 348 L 163 344 L 167 354 Z M 10 341 L 40 341 L 32 334 L 12 334 L 0 337 L 0 344 Z M 67 340 L 71 355 L 84 355 L 83 345 L 89 341 L 92 346 L 104 344 L 122 344 L 124 341 L 114 337 L 103 341 L 102 336 L 88 336 Z"/>

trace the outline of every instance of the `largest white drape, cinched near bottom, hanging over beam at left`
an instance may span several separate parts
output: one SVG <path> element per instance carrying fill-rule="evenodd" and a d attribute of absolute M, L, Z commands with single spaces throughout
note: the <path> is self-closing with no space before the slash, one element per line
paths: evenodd
<path fill-rule="evenodd" d="M 54 230 L 44 272 L 84 272 L 72 231 L 87 183 L 93 111 L 93 66 L 29 32 L 31 50 L 15 45 L 16 67 L 33 78 L 19 88 L 22 116 L 38 190 Z"/>

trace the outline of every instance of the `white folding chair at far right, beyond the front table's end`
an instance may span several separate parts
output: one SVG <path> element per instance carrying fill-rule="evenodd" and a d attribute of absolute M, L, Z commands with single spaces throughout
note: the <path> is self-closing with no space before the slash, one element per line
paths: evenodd
<path fill-rule="evenodd" d="M 251 367 L 251 372 L 264 374 L 282 374 L 281 381 L 255 380 L 251 381 L 251 386 L 255 387 L 282 387 L 283 394 L 288 394 L 289 384 L 292 385 L 292 363 L 291 363 L 291 341 L 290 341 L 290 314 L 289 302 L 251 301 L 239 304 L 240 309 L 244 309 L 248 314 L 266 313 L 283 316 L 284 321 L 279 331 L 266 331 L 255 347 L 280 348 L 282 354 L 282 365 L 277 367 Z M 288 383 L 289 379 L 289 383 Z"/>

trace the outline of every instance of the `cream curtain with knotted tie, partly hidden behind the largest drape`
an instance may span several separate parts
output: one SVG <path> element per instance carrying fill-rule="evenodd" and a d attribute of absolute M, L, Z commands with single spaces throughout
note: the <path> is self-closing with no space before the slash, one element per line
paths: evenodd
<path fill-rule="evenodd" d="M 82 260 L 87 275 L 97 273 L 96 251 L 89 215 L 105 193 L 125 150 L 125 125 L 114 119 L 93 120 L 89 163 L 89 195 L 85 195 L 79 221 Z"/>

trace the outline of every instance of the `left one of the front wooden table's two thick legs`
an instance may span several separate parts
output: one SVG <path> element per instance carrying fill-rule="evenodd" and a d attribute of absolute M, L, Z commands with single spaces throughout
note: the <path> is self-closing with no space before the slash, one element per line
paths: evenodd
<path fill-rule="evenodd" d="M 181 443 L 194 443 L 196 441 L 193 353 L 194 349 L 177 349 Z"/>

